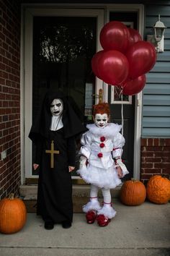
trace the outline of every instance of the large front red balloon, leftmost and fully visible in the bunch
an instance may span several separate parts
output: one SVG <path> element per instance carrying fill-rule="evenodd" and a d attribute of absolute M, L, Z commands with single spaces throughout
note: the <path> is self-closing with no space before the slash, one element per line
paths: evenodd
<path fill-rule="evenodd" d="M 128 60 L 120 51 L 104 51 L 99 58 L 98 71 L 107 84 L 120 85 L 128 77 Z"/>

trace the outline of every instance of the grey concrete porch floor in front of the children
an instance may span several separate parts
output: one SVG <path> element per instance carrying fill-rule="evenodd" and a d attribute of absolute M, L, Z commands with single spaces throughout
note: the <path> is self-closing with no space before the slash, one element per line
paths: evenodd
<path fill-rule="evenodd" d="M 143 256 L 170 255 L 170 204 L 144 202 L 125 206 L 115 200 L 117 215 L 106 227 L 87 224 L 84 213 L 74 213 L 71 229 L 55 225 L 45 230 L 35 213 L 16 234 L 0 234 L 2 256 Z"/>

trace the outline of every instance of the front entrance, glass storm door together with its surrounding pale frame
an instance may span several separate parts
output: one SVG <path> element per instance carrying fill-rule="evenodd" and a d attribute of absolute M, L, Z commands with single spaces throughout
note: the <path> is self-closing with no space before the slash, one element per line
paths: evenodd
<path fill-rule="evenodd" d="M 26 4 L 22 8 L 22 183 L 24 183 L 25 178 L 37 177 L 37 174 L 32 170 L 34 150 L 32 150 L 32 142 L 28 138 L 28 134 L 32 125 L 32 118 L 36 116 L 40 99 L 45 90 L 55 86 L 65 90 L 65 93 L 71 95 L 73 100 L 78 103 L 84 122 L 90 121 L 92 104 L 98 103 L 98 98 L 95 96 L 91 98 L 91 94 L 99 95 L 99 89 L 102 89 L 103 100 L 109 102 L 111 107 L 112 104 L 115 104 L 113 88 L 110 93 L 108 85 L 95 78 L 92 72 L 89 73 L 92 54 L 102 50 L 99 43 L 99 33 L 104 23 L 109 22 L 112 12 L 122 12 L 122 17 L 123 12 L 135 12 L 138 17 L 138 30 L 143 35 L 144 8 L 141 4 L 107 4 L 105 6 L 98 4 L 96 9 L 93 9 L 95 5 L 93 8 L 75 9 L 79 6 L 81 4 L 70 5 L 68 8 L 62 9 L 57 6 L 48 7 L 48 5 L 44 8 L 29 7 Z M 59 28 L 57 28 L 58 24 L 60 25 Z M 84 31 L 84 40 L 82 40 L 82 31 Z M 80 34 L 81 38 L 79 38 Z M 59 44 L 60 51 L 57 50 L 55 44 L 51 43 L 53 39 L 56 39 L 55 35 L 58 35 L 58 40 L 63 42 L 63 44 Z M 70 44 L 65 42 L 68 39 Z M 77 48 L 74 50 L 71 48 L 73 40 L 77 40 L 75 43 Z M 62 45 L 63 47 L 61 47 Z M 66 49 L 65 47 L 68 45 L 70 48 Z M 63 54 L 65 50 L 66 56 Z M 54 51 L 60 53 L 57 59 L 54 58 Z M 75 58 L 76 55 L 77 58 Z M 134 101 L 134 142 L 131 142 L 134 143 L 133 176 L 135 179 L 139 179 L 142 93 L 135 95 Z M 129 105 L 125 104 L 124 109 L 127 106 Z"/>

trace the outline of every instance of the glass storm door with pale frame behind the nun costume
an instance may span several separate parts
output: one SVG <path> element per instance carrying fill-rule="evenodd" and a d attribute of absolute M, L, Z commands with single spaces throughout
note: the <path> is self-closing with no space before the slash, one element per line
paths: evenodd
<path fill-rule="evenodd" d="M 92 95 L 99 94 L 104 86 L 91 72 L 91 58 L 101 50 L 99 31 L 103 25 L 103 9 L 26 9 L 23 81 L 26 179 L 37 177 L 32 169 L 34 147 L 28 134 L 48 88 L 60 88 L 71 96 L 82 121 L 90 121 L 92 105 L 98 101 Z"/>

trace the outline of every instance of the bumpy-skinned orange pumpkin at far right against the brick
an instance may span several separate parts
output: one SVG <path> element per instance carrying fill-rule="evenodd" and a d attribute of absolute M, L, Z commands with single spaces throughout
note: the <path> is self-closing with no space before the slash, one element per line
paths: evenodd
<path fill-rule="evenodd" d="M 149 201 L 158 205 L 170 200 L 170 181 L 161 175 L 154 175 L 148 180 L 146 194 Z"/>

